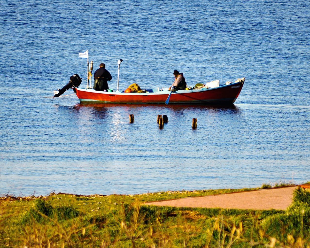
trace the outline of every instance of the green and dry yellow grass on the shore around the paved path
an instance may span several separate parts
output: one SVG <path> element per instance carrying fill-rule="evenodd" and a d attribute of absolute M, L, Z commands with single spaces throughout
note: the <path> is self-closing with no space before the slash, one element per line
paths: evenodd
<path fill-rule="evenodd" d="M 302 188 L 287 211 L 143 205 L 247 190 L 3 197 L 0 247 L 309 247 L 310 192 Z"/>

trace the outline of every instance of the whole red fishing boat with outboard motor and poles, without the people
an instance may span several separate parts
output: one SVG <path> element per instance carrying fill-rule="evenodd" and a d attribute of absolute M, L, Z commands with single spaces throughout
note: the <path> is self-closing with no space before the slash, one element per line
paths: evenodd
<path fill-rule="evenodd" d="M 88 54 L 87 54 L 88 56 Z M 78 74 L 70 77 L 69 83 L 62 89 L 55 92 L 54 97 L 59 97 L 69 88 L 72 88 L 76 93 L 81 103 L 113 103 L 113 104 L 232 104 L 236 101 L 240 94 L 245 78 L 238 78 L 234 83 L 227 82 L 220 86 L 212 88 L 201 86 L 193 89 L 173 91 L 168 89 L 147 89 L 142 93 L 126 93 L 119 91 L 119 67 L 123 60 L 118 60 L 118 76 L 117 89 L 108 91 L 96 91 L 91 88 L 91 79 L 88 78 L 87 87 L 79 88 L 82 79 Z M 92 71 L 91 66 L 88 71 Z M 90 74 L 91 75 L 91 74 Z M 89 86 L 90 82 L 90 87 Z"/>

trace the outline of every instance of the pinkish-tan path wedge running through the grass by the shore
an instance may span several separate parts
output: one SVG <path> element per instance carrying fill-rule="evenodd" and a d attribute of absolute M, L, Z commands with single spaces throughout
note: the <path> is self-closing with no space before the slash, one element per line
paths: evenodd
<path fill-rule="evenodd" d="M 260 189 L 240 193 L 188 197 L 176 200 L 148 202 L 146 205 L 202 207 L 202 208 L 236 208 L 254 210 L 286 210 L 292 203 L 293 192 L 297 186 L 285 188 Z"/>

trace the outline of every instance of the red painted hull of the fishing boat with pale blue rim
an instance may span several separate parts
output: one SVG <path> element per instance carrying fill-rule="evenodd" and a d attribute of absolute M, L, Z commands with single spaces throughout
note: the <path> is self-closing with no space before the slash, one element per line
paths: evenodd
<path fill-rule="evenodd" d="M 244 81 L 216 88 L 175 91 L 170 96 L 169 104 L 232 104 L 239 96 L 243 83 Z M 164 104 L 170 93 L 170 91 L 124 93 L 80 88 L 75 88 L 75 91 L 81 103 L 114 104 Z"/>

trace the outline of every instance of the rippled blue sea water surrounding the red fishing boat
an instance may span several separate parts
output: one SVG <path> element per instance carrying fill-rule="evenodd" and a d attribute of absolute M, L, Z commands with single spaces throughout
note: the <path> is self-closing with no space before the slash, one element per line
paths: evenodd
<path fill-rule="evenodd" d="M 0 195 L 310 180 L 309 1 L 0 0 L 0 9 Z M 75 73 L 86 87 L 86 50 L 112 89 L 119 59 L 120 90 L 169 87 L 175 69 L 192 87 L 246 79 L 232 106 L 81 104 L 71 89 L 53 98 Z"/>

